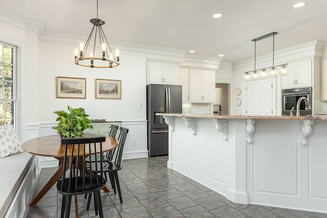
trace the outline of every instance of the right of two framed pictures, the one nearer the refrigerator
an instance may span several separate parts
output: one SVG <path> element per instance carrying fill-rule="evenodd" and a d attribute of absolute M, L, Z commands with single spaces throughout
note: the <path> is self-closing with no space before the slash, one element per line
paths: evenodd
<path fill-rule="evenodd" d="M 122 81 L 96 79 L 96 99 L 122 99 Z"/>

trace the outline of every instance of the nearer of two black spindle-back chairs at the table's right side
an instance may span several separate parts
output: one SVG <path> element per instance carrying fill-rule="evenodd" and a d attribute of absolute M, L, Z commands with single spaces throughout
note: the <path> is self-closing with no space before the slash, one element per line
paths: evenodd
<path fill-rule="evenodd" d="M 103 167 L 102 167 L 103 172 L 108 173 L 109 175 L 114 193 L 116 193 L 116 187 L 117 187 L 119 199 L 121 203 L 123 203 L 123 199 L 122 199 L 121 186 L 119 183 L 118 171 L 122 169 L 121 162 L 122 162 L 124 144 L 125 144 L 127 133 L 128 133 L 128 129 L 124 127 L 120 128 L 120 134 L 118 137 L 118 141 L 119 141 L 118 146 L 108 152 L 107 159 L 103 161 Z M 91 166 L 95 165 L 95 163 L 91 163 L 90 165 Z M 98 165 L 98 169 L 99 167 L 100 166 Z M 95 170 L 95 166 L 91 168 L 93 169 L 93 171 Z M 91 171 L 91 169 L 89 170 Z M 86 205 L 87 210 L 89 208 L 90 201 L 91 201 L 91 195 L 89 195 L 88 197 L 88 201 Z"/>

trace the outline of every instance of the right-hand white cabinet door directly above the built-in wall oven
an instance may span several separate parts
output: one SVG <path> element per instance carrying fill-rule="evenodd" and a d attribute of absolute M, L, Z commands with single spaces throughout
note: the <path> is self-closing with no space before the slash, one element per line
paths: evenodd
<path fill-rule="evenodd" d="M 312 60 L 303 60 L 296 63 L 296 87 L 312 85 Z"/>

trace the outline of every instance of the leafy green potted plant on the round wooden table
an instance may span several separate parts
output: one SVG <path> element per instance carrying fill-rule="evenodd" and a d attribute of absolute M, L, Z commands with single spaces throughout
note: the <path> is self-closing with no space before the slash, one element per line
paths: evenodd
<path fill-rule="evenodd" d="M 52 129 L 57 130 L 61 137 L 65 138 L 82 138 L 84 137 L 83 131 L 85 129 L 93 129 L 91 120 L 87 117 L 89 115 L 83 114 L 83 108 L 72 108 L 68 105 L 68 111 L 64 110 L 55 111 L 58 115 L 56 122 L 57 126 Z"/>

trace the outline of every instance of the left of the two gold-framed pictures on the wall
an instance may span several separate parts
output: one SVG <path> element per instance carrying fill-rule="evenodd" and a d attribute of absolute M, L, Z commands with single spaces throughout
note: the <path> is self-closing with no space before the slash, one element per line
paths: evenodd
<path fill-rule="evenodd" d="M 57 99 L 86 99 L 86 79 L 56 77 Z"/>

